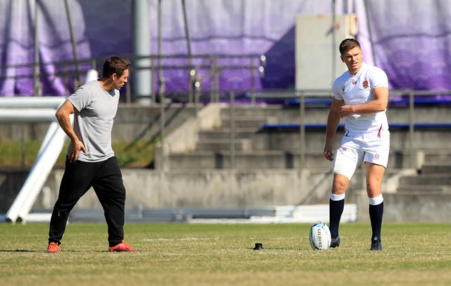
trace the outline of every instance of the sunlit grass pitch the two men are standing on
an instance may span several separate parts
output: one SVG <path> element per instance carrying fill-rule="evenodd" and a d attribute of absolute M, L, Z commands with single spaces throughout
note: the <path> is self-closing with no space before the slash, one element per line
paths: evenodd
<path fill-rule="evenodd" d="M 0 223 L 0 285 L 451 285 L 450 224 L 342 224 L 313 251 L 307 224 L 126 224 L 138 251 L 107 251 L 106 225 L 69 224 L 58 254 L 47 224 Z M 256 242 L 264 249 L 252 250 Z"/>

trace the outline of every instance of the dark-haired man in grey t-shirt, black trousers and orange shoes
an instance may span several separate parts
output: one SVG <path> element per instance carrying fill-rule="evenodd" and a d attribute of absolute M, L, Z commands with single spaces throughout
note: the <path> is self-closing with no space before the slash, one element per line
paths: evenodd
<path fill-rule="evenodd" d="M 119 89 L 128 81 L 130 63 L 107 58 L 99 80 L 82 85 L 58 108 L 56 118 L 70 139 L 66 169 L 51 214 L 47 252 L 61 251 L 69 213 L 92 187 L 104 209 L 109 251 L 135 251 L 124 242 L 125 187 L 111 148 L 111 130 L 119 103 Z M 74 114 L 74 123 L 70 123 Z"/>

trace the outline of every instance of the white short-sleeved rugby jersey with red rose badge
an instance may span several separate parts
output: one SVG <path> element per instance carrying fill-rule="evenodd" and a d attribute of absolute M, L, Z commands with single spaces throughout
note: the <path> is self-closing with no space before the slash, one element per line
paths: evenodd
<path fill-rule="evenodd" d="M 388 87 L 388 77 L 381 68 L 362 63 L 356 75 L 347 70 L 335 80 L 332 94 L 335 99 L 344 100 L 345 105 L 360 105 L 374 100 L 374 87 Z M 345 136 L 358 135 L 390 136 L 385 111 L 347 116 Z"/>

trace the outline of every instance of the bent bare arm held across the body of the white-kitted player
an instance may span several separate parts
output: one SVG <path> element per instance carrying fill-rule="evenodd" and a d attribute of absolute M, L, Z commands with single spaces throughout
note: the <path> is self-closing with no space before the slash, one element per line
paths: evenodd
<path fill-rule="evenodd" d="M 340 107 L 340 117 L 344 118 L 351 114 L 366 114 L 385 111 L 388 105 L 388 87 L 374 87 L 374 100 L 366 104 L 360 105 L 345 105 Z"/>

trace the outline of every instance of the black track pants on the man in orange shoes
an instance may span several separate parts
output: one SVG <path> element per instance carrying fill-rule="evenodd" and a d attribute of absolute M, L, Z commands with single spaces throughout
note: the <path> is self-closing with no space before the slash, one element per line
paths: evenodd
<path fill-rule="evenodd" d="M 66 159 L 58 200 L 51 213 L 49 243 L 61 244 L 70 211 L 90 187 L 104 209 L 109 246 L 121 243 L 124 237 L 125 187 L 116 157 L 97 163 L 70 163 Z"/>

